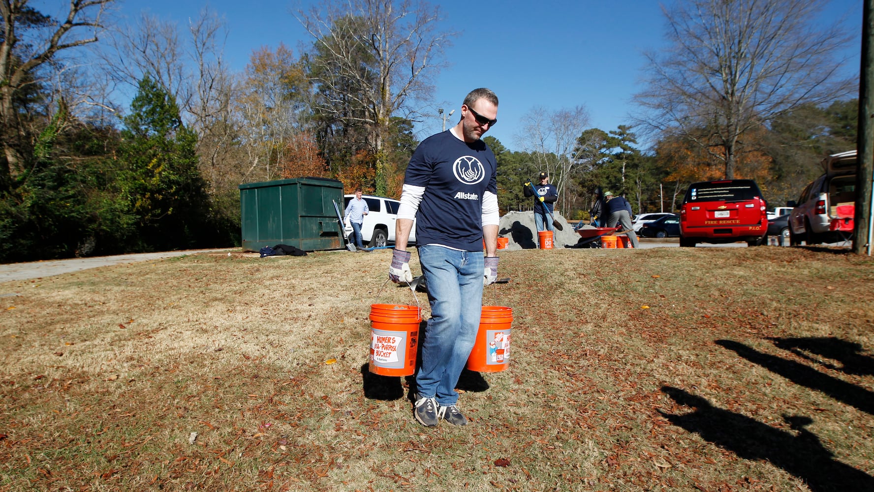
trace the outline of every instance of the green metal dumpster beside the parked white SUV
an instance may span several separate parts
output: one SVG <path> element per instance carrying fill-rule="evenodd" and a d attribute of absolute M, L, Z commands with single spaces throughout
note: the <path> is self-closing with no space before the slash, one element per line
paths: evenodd
<path fill-rule="evenodd" d="M 243 251 L 296 246 L 305 251 L 342 249 L 343 184 L 323 177 L 295 177 L 239 185 Z"/>

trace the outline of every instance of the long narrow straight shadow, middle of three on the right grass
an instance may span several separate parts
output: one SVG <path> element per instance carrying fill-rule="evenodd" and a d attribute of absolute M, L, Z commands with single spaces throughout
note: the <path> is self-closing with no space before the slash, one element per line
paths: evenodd
<path fill-rule="evenodd" d="M 857 385 L 847 383 L 827 374 L 822 374 L 805 364 L 794 362 L 780 357 L 775 357 L 743 343 L 732 340 L 717 340 L 716 343 L 728 350 L 733 350 L 740 357 L 753 364 L 759 364 L 768 371 L 787 378 L 796 385 L 806 386 L 812 390 L 825 393 L 831 398 L 842 401 L 847 405 L 853 405 L 863 412 L 874 415 L 874 392 L 870 392 Z M 872 489 L 874 490 L 874 489 Z"/>

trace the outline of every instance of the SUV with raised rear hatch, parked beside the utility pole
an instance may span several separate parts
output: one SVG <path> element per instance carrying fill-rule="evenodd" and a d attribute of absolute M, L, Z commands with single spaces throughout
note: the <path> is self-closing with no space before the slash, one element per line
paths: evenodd
<path fill-rule="evenodd" d="M 833 242 L 829 230 L 838 205 L 856 203 L 856 150 L 833 154 L 822 160 L 825 174 L 801 191 L 789 213 L 789 243 L 808 245 Z"/>

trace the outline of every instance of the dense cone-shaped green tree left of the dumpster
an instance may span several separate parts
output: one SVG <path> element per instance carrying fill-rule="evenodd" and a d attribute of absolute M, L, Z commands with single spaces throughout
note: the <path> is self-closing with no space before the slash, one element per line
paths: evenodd
<path fill-rule="evenodd" d="M 121 131 L 127 164 L 122 187 L 140 232 L 139 247 L 173 249 L 208 244 L 202 235 L 209 200 L 198 172 L 197 135 L 149 75 L 143 77 Z"/>

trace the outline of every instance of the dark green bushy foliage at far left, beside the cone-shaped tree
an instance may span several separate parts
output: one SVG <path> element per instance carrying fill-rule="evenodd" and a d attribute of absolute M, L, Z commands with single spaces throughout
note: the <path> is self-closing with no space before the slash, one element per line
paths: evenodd
<path fill-rule="evenodd" d="M 123 253 L 135 232 L 112 158 L 118 132 L 67 119 L 62 106 L 38 135 L 27 179 L 0 193 L 0 261 Z"/>

